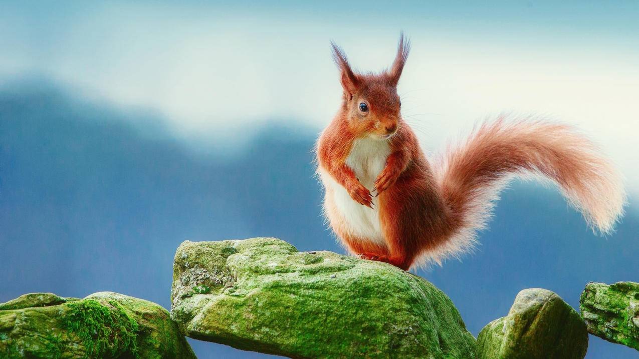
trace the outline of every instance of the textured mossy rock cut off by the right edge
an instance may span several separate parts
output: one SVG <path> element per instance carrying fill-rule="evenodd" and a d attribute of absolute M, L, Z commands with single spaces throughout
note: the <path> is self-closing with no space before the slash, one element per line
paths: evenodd
<path fill-rule="evenodd" d="M 580 309 L 590 333 L 639 350 L 639 283 L 589 283 Z"/>

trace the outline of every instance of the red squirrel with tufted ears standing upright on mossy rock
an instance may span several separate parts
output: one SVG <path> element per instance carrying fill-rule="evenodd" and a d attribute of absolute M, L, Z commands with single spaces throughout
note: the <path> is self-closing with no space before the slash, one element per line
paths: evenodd
<path fill-rule="evenodd" d="M 593 229 L 613 230 L 626 199 L 620 175 L 571 126 L 500 116 L 431 163 L 397 95 L 410 41 L 400 36 L 392 66 L 380 73 L 356 73 L 332 49 L 343 102 L 316 155 L 325 216 L 351 254 L 403 270 L 459 256 L 517 174 L 550 179 Z"/>

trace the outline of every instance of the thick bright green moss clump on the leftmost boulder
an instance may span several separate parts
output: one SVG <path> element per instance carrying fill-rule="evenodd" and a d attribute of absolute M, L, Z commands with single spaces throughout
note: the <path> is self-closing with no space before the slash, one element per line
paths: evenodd
<path fill-rule="evenodd" d="M 139 358 L 137 323 L 118 302 L 108 303 L 113 309 L 92 299 L 66 303 L 69 312 L 63 326 L 82 340 L 88 358 L 117 358 L 127 352 Z"/>

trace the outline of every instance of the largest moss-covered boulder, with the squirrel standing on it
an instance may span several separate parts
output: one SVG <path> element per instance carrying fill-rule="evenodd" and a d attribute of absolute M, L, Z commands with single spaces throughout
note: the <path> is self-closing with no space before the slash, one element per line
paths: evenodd
<path fill-rule="evenodd" d="M 450 299 L 390 264 L 275 238 L 185 241 L 171 316 L 190 337 L 293 358 L 474 358 Z"/>

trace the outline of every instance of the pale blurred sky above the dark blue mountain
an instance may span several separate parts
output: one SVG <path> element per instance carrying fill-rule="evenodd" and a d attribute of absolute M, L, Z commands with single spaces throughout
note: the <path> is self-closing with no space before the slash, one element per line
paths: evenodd
<path fill-rule="evenodd" d="M 578 125 L 639 188 L 638 16 L 633 1 L 3 3 L 0 81 L 45 75 L 228 151 L 273 119 L 318 132 L 341 91 L 328 42 L 381 70 L 403 29 L 399 93 L 425 149 L 499 112 L 541 114 Z"/>

